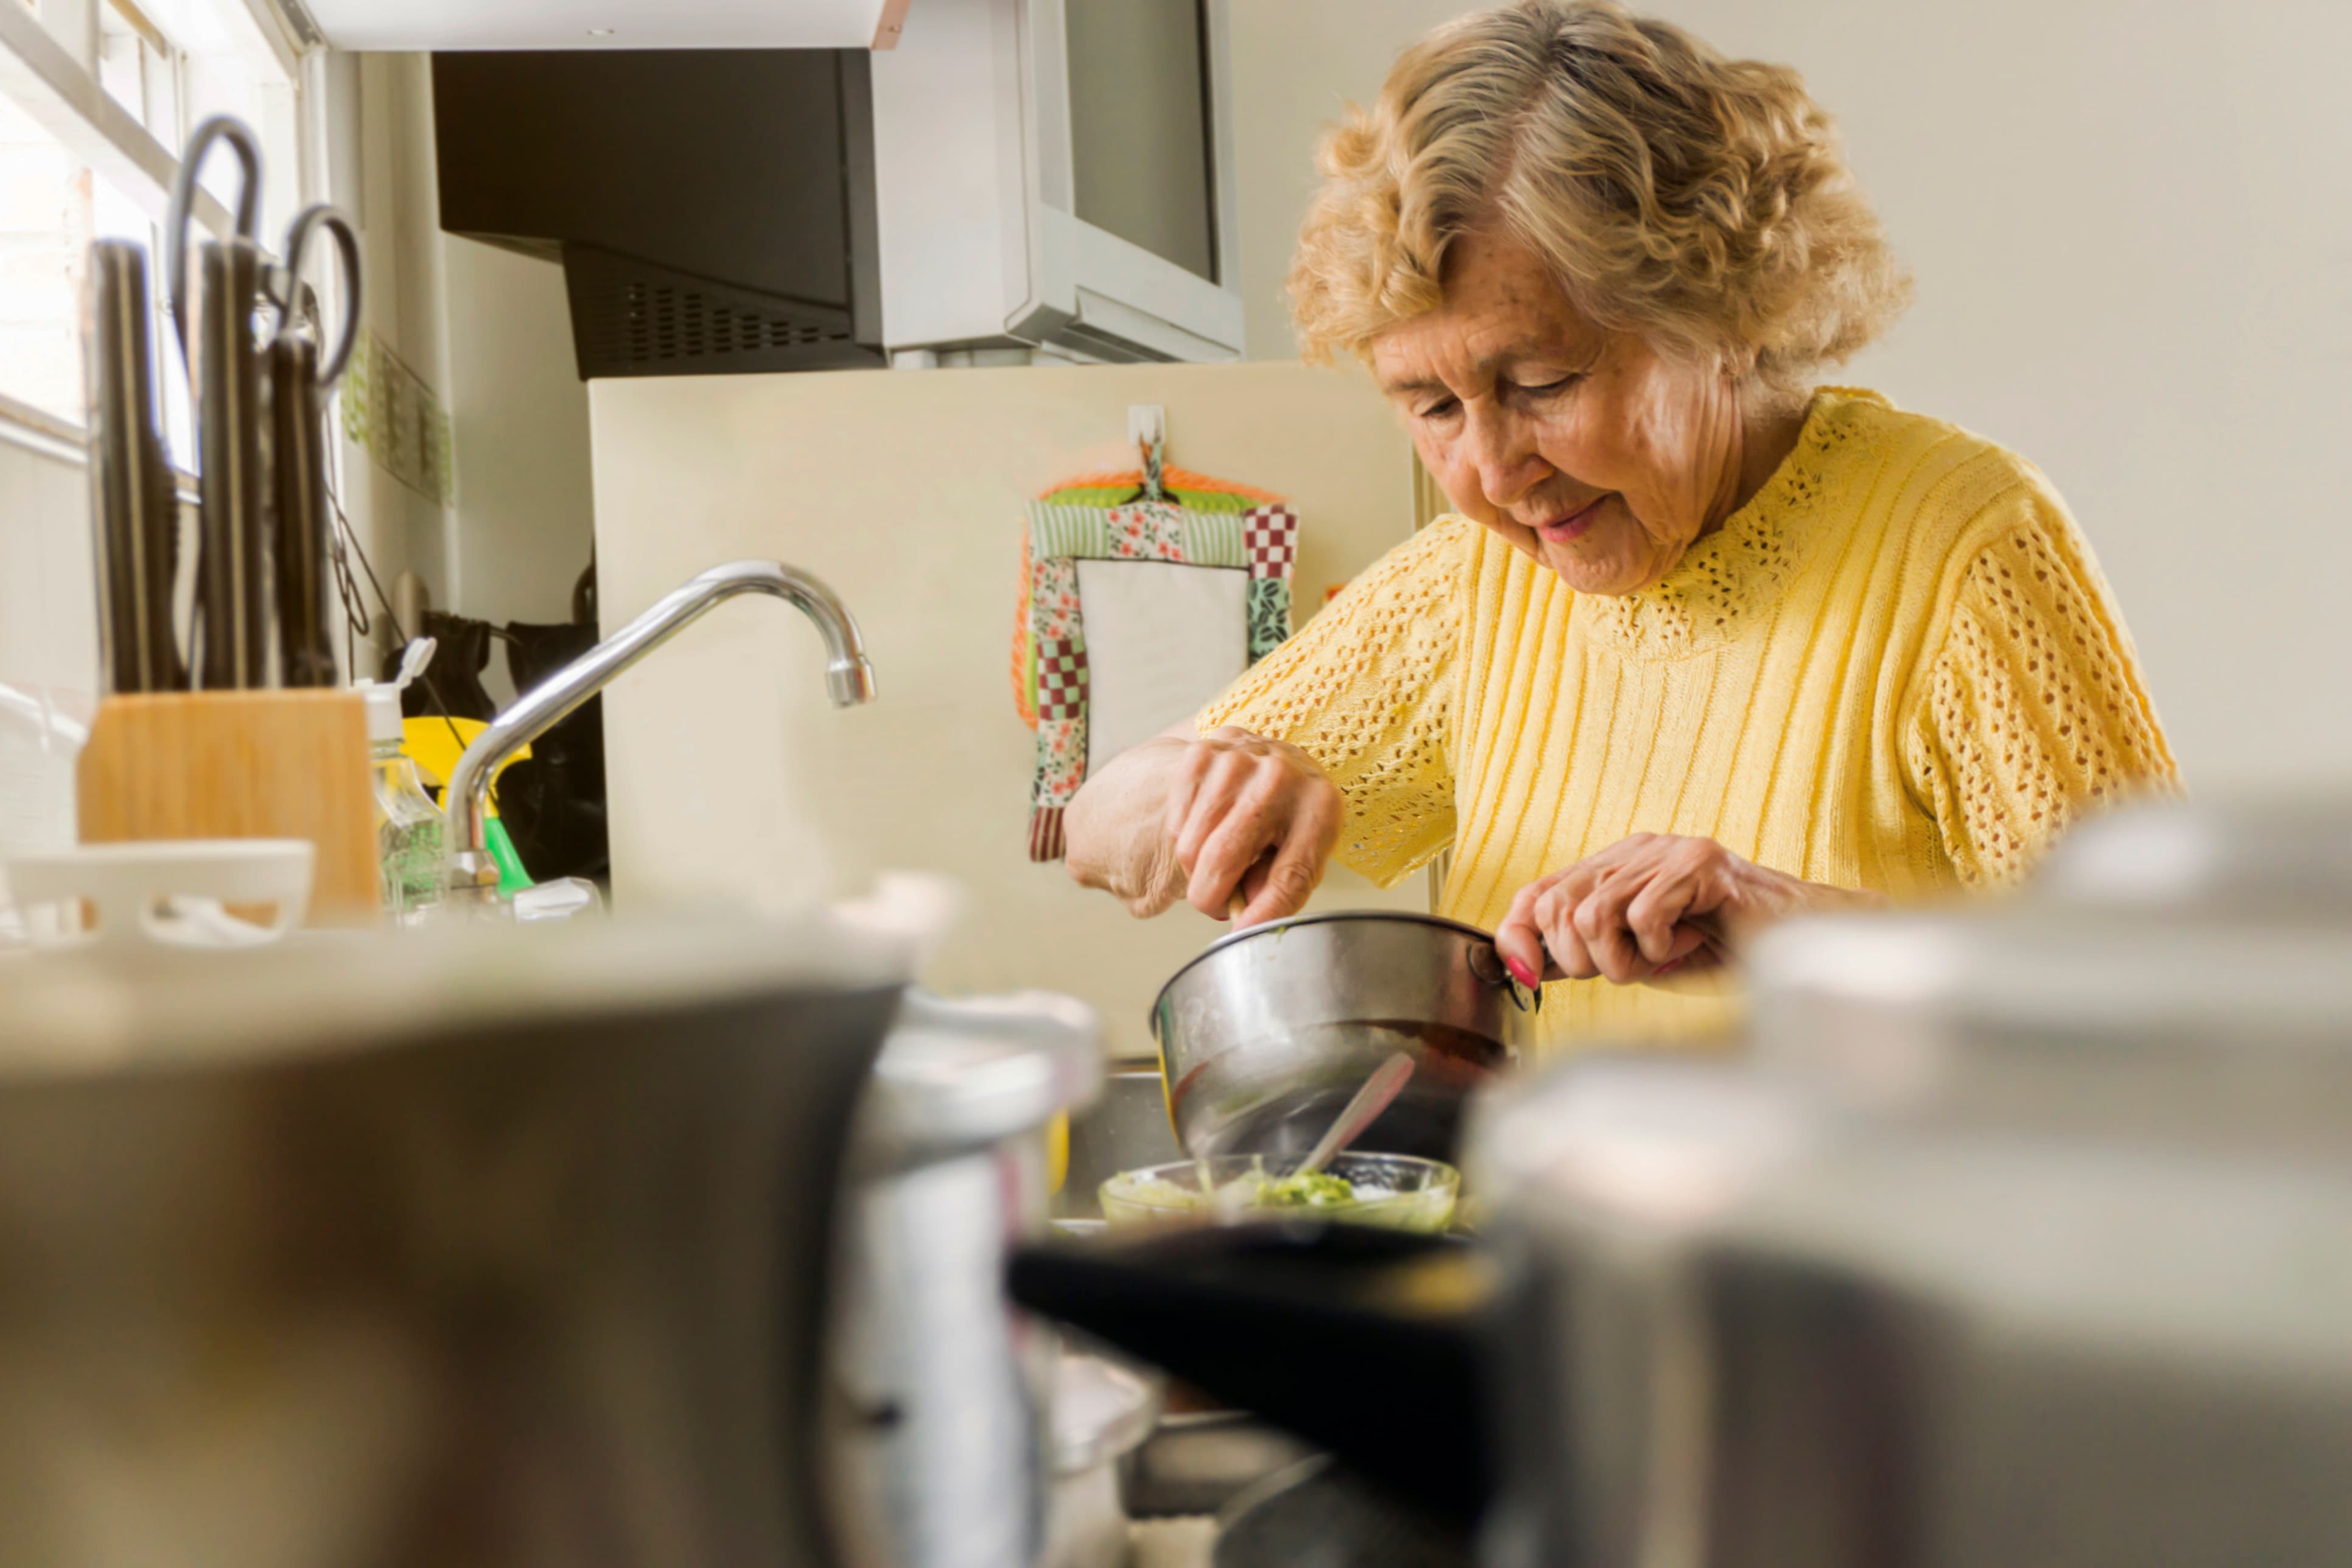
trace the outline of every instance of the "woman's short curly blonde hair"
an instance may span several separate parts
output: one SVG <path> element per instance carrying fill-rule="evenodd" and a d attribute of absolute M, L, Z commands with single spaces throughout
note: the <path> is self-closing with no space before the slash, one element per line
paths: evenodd
<path fill-rule="evenodd" d="M 1289 277 L 1310 360 L 1367 357 L 1437 308 L 1446 247 L 1479 223 L 1543 256 L 1599 327 L 1771 393 L 1799 393 L 1910 303 L 1804 80 L 1606 0 L 1437 28 L 1317 167 Z"/>

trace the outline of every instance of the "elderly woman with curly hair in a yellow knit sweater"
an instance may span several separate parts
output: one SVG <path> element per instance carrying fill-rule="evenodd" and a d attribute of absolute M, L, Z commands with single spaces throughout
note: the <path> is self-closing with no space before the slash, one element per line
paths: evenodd
<path fill-rule="evenodd" d="M 2016 879 L 2173 762 L 2023 458 L 1813 374 L 1907 284 L 1797 73 L 1611 5 L 1409 49 L 1291 268 L 1458 508 L 1103 769 L 1070 872 L 1263 922 L 1331 853 L 1564 980 L 1550 1039 L 1726 1023 L 1762 922 Z"/>

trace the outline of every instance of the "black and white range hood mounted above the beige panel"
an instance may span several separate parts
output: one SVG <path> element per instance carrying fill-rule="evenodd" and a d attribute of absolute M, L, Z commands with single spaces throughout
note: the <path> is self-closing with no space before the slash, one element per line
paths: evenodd
<path fill-rule="evenodd" d="M 962 0 L 891 52 L 433 56 L 442 228 L 581 376 L 1237 360 L 1223 0 Z"/>

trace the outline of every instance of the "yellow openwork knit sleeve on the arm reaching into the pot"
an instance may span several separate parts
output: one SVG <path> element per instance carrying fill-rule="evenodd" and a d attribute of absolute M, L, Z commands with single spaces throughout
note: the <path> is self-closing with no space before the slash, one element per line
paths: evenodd
<path fill-rule="evenodd" d="M 1289 741 L 1348 806 L 1336 858 L 1395 886 L 1454 839 L 1454 693 L 1470 524 L 1446 517 L 1367 567 L 1195 719 Z"/>

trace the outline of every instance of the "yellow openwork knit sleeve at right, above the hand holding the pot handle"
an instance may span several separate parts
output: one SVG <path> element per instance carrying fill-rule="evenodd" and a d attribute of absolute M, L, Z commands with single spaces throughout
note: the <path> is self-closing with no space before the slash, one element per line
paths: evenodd
<path fill-rule="evenodd" d="M 1962 882 L 1999 886 L 2082 813 L 2180 778 L 2065 505 L 2032 475 L 1980 522 L 1910 705 L 1905 771 Z"/>

